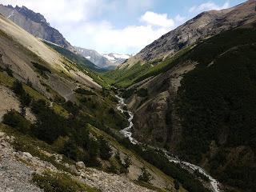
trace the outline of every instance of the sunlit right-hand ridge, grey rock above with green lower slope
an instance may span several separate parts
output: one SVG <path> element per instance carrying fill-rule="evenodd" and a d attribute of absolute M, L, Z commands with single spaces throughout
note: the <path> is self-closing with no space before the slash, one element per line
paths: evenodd
<path fill-rule="evenodd" d="M 198 14 L 146 46 L 119 66 L 118 70 L 107 73 L 106 77 L 112 79 L 111 82 L 116 86 L 130 86 L 142 80 L 142 76 L 148 77 L 152 70 L 162 68 L 165 62 L 170 62 L 170 59 L 178 54 L 179 50 L 189 49 L 204 38 L 253 22 L 256 18 L 255 3 L 255 0 L 249 0 L 227 10 L 210 10 Z"/>

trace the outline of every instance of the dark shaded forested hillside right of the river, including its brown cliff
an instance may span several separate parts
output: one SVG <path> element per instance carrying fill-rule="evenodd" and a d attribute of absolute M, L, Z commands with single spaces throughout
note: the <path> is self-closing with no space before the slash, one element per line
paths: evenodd
<path fill-rule="evenodd" d="M 138 141 L 204 166 L 230 191 L 255 187 L 255 29 L 200 42 L 123 94 Z"/>

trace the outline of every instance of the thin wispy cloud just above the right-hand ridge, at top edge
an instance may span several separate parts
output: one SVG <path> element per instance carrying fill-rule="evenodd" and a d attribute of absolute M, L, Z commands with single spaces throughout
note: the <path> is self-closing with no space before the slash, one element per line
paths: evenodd
<path fill-rule="evenodd" d="M 230 7 L 230 1 L 225 2 L 222 6 L 218 6 L 214 2 L 202 3 L 199 6 L 192 6 L 189 10 L 190 13 L 198 14 L 206 10 L 222 10 Z"/>

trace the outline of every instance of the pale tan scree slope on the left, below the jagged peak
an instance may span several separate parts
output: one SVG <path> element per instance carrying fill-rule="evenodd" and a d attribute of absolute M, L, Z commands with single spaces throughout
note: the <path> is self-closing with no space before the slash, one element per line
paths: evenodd
<path fill-rule="evenodd" d="M 53 95 L 46 91 L 47 88 L 55 90 L 63 98 L 72 94 L 79 85 L 101 88 L 62 55 L 2 15 L 0 26 L 2 67 L 12 70 L 15 77 L 32 82 L 37 90 L 49 97 Z"/>

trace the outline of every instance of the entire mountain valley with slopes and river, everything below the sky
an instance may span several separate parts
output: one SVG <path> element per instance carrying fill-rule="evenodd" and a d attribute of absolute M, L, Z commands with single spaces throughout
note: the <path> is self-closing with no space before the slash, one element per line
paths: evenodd
<path fill-rule="evenodd" d="M 0 5 L 0 191 L 253 192 L 255 7 L 202 12 L 132 56 Z"/>

